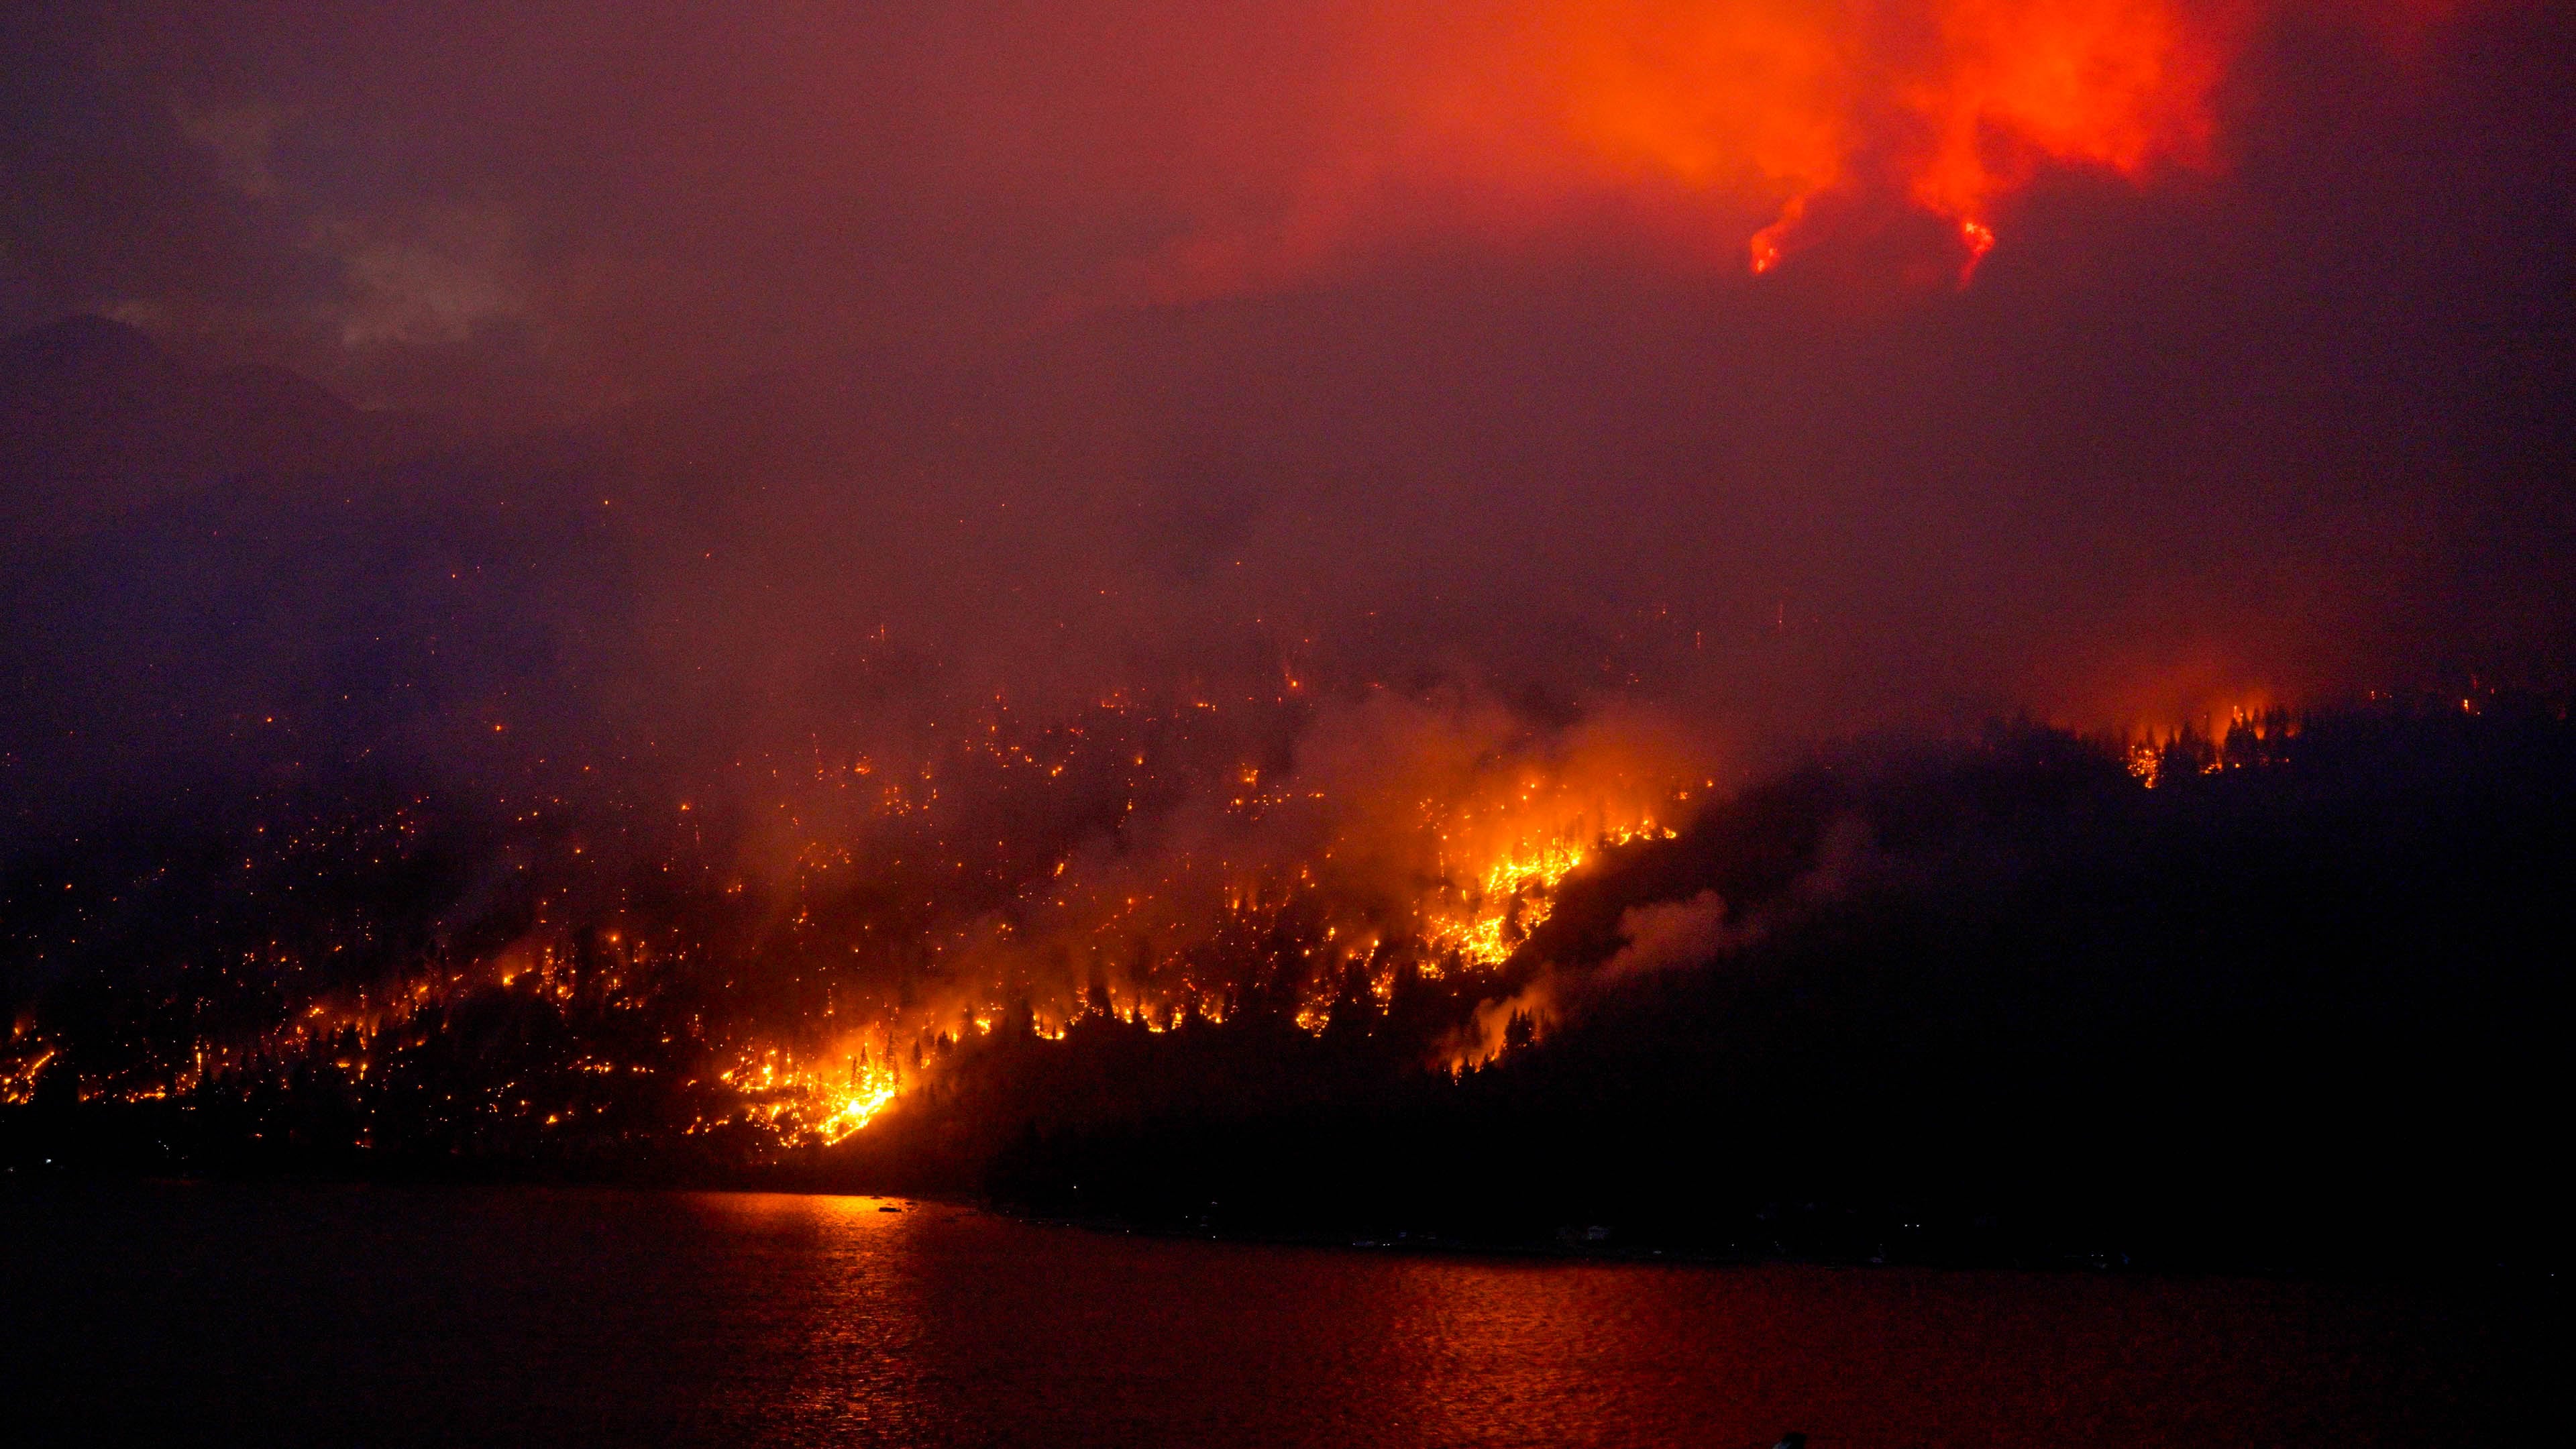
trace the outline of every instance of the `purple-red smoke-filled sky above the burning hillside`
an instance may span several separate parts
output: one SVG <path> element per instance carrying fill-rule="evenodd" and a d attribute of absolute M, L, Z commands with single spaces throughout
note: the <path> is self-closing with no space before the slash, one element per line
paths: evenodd
<path fill-rule="evenodd" d="M 10 5 L 0 327 L 21 797 L 927 694 L 1762 750 L 2555 681 L 2576 13 Z"/>

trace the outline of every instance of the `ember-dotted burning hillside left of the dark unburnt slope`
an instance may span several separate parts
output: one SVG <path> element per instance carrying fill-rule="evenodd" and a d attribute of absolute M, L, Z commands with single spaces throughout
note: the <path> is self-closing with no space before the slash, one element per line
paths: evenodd
<path fill-rule="evenodd" d="M 178 859 L 75 841 L 13 882 L 10 1098 L 52 1070 L 80 1101 L 337 1098 L 281 1122 L 294 1150 L 750 1168 L 997 1036 L 1473 1006 L 1571 871 L 1710 786 L 1641 730 L 1383 691 L 951 735 L 817 755 L 778 820 L 276 792 Z"/>

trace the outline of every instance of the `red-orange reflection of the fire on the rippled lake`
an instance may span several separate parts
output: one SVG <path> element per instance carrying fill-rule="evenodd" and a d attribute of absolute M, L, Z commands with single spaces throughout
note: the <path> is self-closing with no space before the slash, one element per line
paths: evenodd
<path fill-rule="evenodd" d="M 721 1421 L 907 1444 L 2409 1441 L 2465 1359 L 2398 1289 L 1703 1269 L 698 1199 L 752 1248 Z M 2429 1338 L 2427 1338 L 2429 1341 Z"/>

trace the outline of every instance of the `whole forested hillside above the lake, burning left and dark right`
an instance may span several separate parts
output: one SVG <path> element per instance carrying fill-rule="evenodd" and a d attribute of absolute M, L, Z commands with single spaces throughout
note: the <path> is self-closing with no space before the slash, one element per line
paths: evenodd
<path fill-rule="evenodd" d="M 1965 1160 L 2027 1132 L 2125 1150 L 2159 1116 L 2146 1083 L 2172 1111 L 2184 1062 L 2290 1029 L 2262 1006 L 2290 977 L 2372 980 L 2349 1008 L 2409 1055 L 2488 993 L 2558 990 L 2509 941 L 2543 938 L 2576 846 L 2561 704 L 2017 724 L 1731 789 L 1705 768 L 1643 719 L 1373 691 L 992 706 L 902 766 L 817 758 L 783 820 L 675 802 L 466 828 L 435 799 L 252 797 L 229 838 L 10 879 L 10 1152 L 1499 1232 L 1520 1214 L 1468 1191 L 1484 1150 L 1577 1152 L 1566 1181 L 1613 1204 L 1595 1214 L 1636 1217 L 1623 1194 L 1705 1173 L 1636 1137 L 1705 1122 L 1762 1163 L 1739 1196 L 1783 1173 L 1868 1196 L 1886 1173 L 1852 1181 L 1819 1145 L 1909 1163 L 1919 1111 L 1978 1122 Z M 2403 825 L 2318 861 L 2357 817 Z M 2460 892 L 2481 920 L 2447 920 Z M 2414 995 L 2434 936 L 2491 962 L 2468 995 Z M 1814 993 L 1839 1000 L 1824 1039 Z M 2388 1018 L 2401 1000 L 2424 1016 Z M 2020 1011 L 2115 1031 L 2133 1080 L 2035 1067 L 2069 1101 L 1986 1101 L 1994 1062 L 2035 1049 Z M 2136 1011 L 2208 1016 L 2115 1029 Z M 2372 1101 L 2416 1075 L 2329 1036 L 2267 1044 L 2264 1070 L 2385 1073 Z M 2414 1114 L 2460 1091 L 2416 1085 Z M 1605 1168 L 1607 1142 L 1633 1158 Z M 1958 1222 L 2002 1191 L 1904 1181 Z M 2246 1189 L 2262 1232 L 2275 1189 Z"/>

